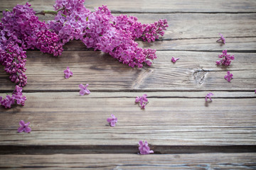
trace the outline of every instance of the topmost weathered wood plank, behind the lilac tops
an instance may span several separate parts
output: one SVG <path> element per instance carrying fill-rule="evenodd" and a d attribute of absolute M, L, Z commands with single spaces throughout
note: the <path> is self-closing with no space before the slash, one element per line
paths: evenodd
<path fill-rule="evenodd" d="M 0 11 L 5 8 L 13 8 L 16 4 L 25 4 L 24 0 L 1 0 Z M 36 0 L 30 1 L 33 8 L 36 11 L 53 9 L 53 4 L 55 0 Z M 114 13 L 181 13 L 181 12 L 191 12 L 191 13 L 255 13 L 256 3 L 253 0 L 247 1 L 106 1 L 106 0 L 87 0 L 85 1 L 85 6 L 90 9 L 95 7 L 107 5 L 108 8 Z"/>

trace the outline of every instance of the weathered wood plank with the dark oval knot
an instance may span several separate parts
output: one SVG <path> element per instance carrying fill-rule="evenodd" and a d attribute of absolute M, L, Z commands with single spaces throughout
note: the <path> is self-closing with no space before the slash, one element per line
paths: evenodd
<path fill-rule="evenodd" d="M 151 67 L 130 68 L 102 52 L 63 52 L 50 57 L 41 52 L 28 52 L 26 64 L 28 84 L 25 91 L 76 91 L 80 83 L 89 83 L 92 91 L 254 91 L 256 84 L 255 53 L 233 53 L 230 67 L 217 67 L 219 52 L 157 52 Z M 181 57 L 176 64 L 171 57 Z M 74 73 L 65 79 L 63 70 Z M 224 79 L 226 72 L 233 80 Z M 13 90 L 3 67 L 0 69 L 0 90 Z"/>

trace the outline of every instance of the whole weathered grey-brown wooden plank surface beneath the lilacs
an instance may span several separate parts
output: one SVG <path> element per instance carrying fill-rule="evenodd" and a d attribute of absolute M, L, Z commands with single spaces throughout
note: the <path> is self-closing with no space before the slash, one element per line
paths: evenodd
<path fill-rule="evenodd" d="M 1 0 L 0 11 L 25 3 Z M 29 3 L 41 11 L 54 1 Z M 256 1 L 85 2 L 91 10 L 102 4 L 142 23 L 166 18 L 163 38 L 138 41 L 156 49 L 158 59 L 132 69 L 79 41 L 68 42 L 59 57 L 28 51 L 26 105 L 0 108 L 0 169 L 256 169 Z M 218 33 L 225 45 L 215 42 Z M 217 67 L 225 49 L 235 60 Z M 173 64 L 173 56 L 181 59 Z M 15 84 L 0 68 L 5 96 Z M 90 84 L 90 95 L 79 96 L 81 83 Z M 134 104 L 142 94 L 149 96 L 144 111 Z M 110 114 L 118 118 L 114 128 L 107 125 Z M 19 120 L 31 122 L 31 133 L 16 132 Z M 155 154 L 137 154 L 139 140 Z"/>

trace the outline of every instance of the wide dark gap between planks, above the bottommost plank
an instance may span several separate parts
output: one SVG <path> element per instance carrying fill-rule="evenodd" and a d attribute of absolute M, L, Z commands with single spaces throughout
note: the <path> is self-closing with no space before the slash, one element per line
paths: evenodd
<path fill-rule="evenodd" d="M 139 145 L 1 145 L 1 154 L 137 154 Z M 150 145 L 154 154 L 255 153 L 256 145 Z M 255 153 L 256 154 L 256 153 Z"/>

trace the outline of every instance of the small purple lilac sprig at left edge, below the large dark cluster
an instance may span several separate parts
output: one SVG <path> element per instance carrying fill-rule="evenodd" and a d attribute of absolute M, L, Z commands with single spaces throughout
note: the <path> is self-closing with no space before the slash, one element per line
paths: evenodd
<path fill-rule="evenodd" d="M 1 106 L 5 108 L 11 108 L 11 105 L 17 103 L 18 105 L 24 106 L 26 101 L 26 96 L 22 94 L 22 87 L 16 86 L 12 96 L 7 95 L 6 98 L 0 96 Z"/>

